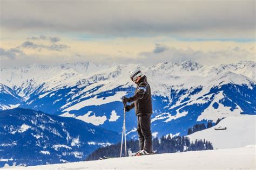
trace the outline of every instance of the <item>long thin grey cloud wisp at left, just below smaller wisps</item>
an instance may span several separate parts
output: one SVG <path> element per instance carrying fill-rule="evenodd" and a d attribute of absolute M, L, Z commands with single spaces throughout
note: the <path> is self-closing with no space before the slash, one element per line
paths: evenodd
<path fill-rule="evenodd" d="M 64 44 L 51 44 L 51 45 L 43 45 L 43 44 L 35 44 L 31 41 L 25 41 L 21 45 L 22 48 L 31 48 L 31 49 L 37 49 L 38 51 L 41 51 L 42 49 L 47 49 L 49 51 L 63 51 L 66 48 L 69 48 L 68 45 Z"/>

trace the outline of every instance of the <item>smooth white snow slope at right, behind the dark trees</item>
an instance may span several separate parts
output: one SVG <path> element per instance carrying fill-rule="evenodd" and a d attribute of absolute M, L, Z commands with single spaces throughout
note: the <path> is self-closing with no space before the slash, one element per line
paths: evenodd
<path fill-rule="evenodd" d="M 211 141 L 214 149 L 235 148 L 247 145 L 255 145 L 256 131 L 255 115 L 230 116 L 221 120 L 218 126 L 226 127 L 226 130 L 214 130 L 212 128 L 198 131 L 188 135 L 191 140 L 205 139 Z"/>

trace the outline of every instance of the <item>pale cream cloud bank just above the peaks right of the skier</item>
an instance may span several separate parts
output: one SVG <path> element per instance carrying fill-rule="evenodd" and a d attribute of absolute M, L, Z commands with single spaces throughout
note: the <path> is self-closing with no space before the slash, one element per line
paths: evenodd
<path fill-rule="evenodd" d="M 158 45 L 156 45 L 157 48 Z M 155 49 L 156 49 L 155 48 Z M 186 60 L 197 61 L 202 64 L 231 63 L 240 60 L 256 60 L 255 51 L 242 49 L 240 47 L 219 49 L 215 51 L 194 50 L 190 47 L 186 49 L 176 47 L 166 47 L 164 51 L 142 52 L 137 62 L 145 65 L 153 65 L 159 62 L 182 62 Z"/>

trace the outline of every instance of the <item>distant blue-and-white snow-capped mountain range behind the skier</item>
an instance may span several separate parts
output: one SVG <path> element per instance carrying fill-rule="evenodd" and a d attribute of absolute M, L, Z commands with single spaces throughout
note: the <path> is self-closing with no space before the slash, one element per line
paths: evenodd
<path fill-rule="evenodd" d="M 256 114 L 255 62 L 203 66 L 194 61 L 163 62 L 150 67 L 92 62 L 1 69 L 1 83 L 21 97 L 19 107 L 75 117 L 116 132 L 122 131 L 123 104 L 135 84 L 134 68 L 142 69 L 152 90 L 152 132 L 187 134 L 198 122 Z M 2 93 L 2 92 L 1 92 Z M 8 100 L 6 100 L 8 101 Z M 10 107 L 1 103 L 2 109 Z M 136 137 L 134 111 L 126 114 L 129 136 Z"/>

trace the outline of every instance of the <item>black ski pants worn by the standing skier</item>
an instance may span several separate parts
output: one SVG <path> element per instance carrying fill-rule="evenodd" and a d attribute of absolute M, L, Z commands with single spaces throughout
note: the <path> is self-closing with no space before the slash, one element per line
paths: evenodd
<path fill-rule="evenodd" d="M 140 150 L 152 153 L 151 115 L 137 116 Z"/>

